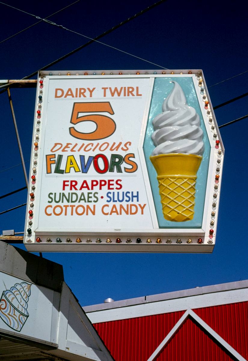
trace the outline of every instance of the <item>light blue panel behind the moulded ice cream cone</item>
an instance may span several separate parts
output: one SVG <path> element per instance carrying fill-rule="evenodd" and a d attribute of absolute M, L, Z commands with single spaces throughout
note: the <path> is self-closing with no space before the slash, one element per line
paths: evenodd
<path fill-rule="evenodd" d="M 169 95 L 169 93 L 171 93 L 173 89 L 173 83 L 171 83 L 171 81 L 175 81 L 181 86 L 183 92 L 185 93 L 187 104 L 195 108 L 196 112 L 199 114 L 200 127 L 203 130 L 203 142 L 205 147 L 203 153 L 203 159 L 200 168 L 197 172 L 194 218 L 191 221 L 186 221 L 186 222 L 172 222 L 164 219 L 160 195 L 159 195 L 157 173 L 149 159 L 149 157 L 152 155 L 153 149 L 155 148 L 151 139 L 151 135 L 154 132 L 152 126 L 152 120 L 158 114 L 162 113 L 163 101 Z M 150 179 L 152 195 L 155 203 L 159 228 L 201 228 L 204 202 L 205 202 L 205 191 L 207 186 L 210 144 L 205 129 L 205 125 L 203 122 L 202 112 L 200 110 L 198 98 L 196 96 L 194 83 L 191 77 L 184 77 L 184 78 L 171 77 L 171 78 L 155 79 L 143 149 L 145 153 L 146 165 L 149 173 L 149 179 Z"/>

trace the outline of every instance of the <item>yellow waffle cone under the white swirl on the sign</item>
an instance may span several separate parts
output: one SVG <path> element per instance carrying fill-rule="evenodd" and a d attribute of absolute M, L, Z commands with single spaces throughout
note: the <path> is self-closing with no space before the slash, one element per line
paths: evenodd
<path fill-rule="evenodd" d="M 158 174 L 164 218 L 174 222 L 193 219 L 196 173 L 202 156 L 171 153 L 150 160 Z"/>

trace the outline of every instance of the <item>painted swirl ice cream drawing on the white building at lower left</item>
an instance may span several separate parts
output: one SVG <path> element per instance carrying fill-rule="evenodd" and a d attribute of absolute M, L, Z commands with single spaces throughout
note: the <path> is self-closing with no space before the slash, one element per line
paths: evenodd
<path fill-rule="evenodd" d="M 31 284 L 16 283 L 10 290 L 3 291 L 0 299 L 0 318 L 15 331 L 21 331 L 28 318 L 27 306 Z"/>

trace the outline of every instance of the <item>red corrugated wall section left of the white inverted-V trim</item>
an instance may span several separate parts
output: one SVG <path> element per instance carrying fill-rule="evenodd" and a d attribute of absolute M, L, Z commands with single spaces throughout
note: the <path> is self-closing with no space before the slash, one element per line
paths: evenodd
<path fill-rule="evenodd" d="M 94 324 L 116 361 L 146 361 L 185 311 Z"/>

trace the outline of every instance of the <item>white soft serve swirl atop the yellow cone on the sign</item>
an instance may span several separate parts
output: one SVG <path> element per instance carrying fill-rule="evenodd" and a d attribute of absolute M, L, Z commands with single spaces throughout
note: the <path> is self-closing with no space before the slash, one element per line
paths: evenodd
<path fill-rule="evenodd" d="M 162 113 L 153 121 L 153 156 L 168 153 L 195 154 L 202 156 L 204 144 L 200 118 L 196 110 L 187 104 L 185 94 L 177 82 L 166 97 Z"/>

